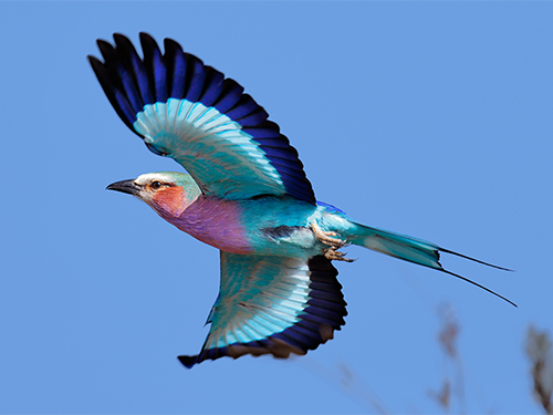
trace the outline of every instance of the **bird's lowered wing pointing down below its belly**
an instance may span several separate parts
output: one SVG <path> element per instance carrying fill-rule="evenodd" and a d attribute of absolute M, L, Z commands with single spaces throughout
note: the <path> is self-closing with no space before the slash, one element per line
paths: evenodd
<path fill-rule="evenodd" d="M 198 355 L 178 359 L 191 367 L 222 356 L 288 357 L 316 349 L 345 324 L 337 273 L 323 256 L 300 260 L 221 251 L 221 287 L 206 343 Z"/>

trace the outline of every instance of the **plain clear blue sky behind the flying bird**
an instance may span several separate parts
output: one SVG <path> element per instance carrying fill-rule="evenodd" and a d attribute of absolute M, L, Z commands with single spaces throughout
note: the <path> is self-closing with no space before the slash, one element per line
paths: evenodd
<path fill-rule="evenodd" d="M 553 329 L 552 2 L 0 3 L 2 413 L 540 413 L 529 324 Z M 170 37 L 241 83 L 320 200 L 517 272 L 452 277 L 361 248 L 333 341 L 186 370 L 218 252 L 106 185 L 160 169 L 85 56 Z M 449 304 L 459 366 L 437 341 Z M 460 382 L 460 383 L 459 383 Z"/>

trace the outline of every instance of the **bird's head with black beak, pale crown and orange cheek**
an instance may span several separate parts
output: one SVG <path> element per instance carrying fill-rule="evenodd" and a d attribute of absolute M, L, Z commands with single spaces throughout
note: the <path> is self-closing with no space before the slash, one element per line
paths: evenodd
<path fill-rule="evenodd" d="M 106 189 L 136 196 L 165 218 L 180 216 L 201 195 L 190 175 L 176 172 L 147 173 L 112 183 Z"/>

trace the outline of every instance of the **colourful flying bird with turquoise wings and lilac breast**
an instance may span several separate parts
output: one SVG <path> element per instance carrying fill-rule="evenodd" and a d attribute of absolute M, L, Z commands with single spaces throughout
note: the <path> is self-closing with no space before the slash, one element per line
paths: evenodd
<path fill-rule="evenodd" d="M 156 155 L 185 172 L 156 172 L 107 186 L 146 203 L 163 219 L 220 251 L 220 289 L 192 367 L 222 356 L 304 355 L 345 324 L 346 302 L 333 261 L 361 246 L 448 273 L 440 253 L 509 270 L 406 235 L 369 227 L 317 201 L 298 151 L 244 89 L 184 52 L 179 43 L 139 33 L 96 41 L 88 55 L 125 125 Z M 517 307 L 517 305 L 515 305 Z"/>

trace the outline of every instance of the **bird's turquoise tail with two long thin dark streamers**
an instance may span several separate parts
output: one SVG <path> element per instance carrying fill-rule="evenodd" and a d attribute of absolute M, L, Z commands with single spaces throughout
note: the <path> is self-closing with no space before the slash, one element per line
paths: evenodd
<path fill-rule="evenodd" d="M 469 280 L 468 278 L 461 277 L 457 273 L 446 270 L 440 260 L 440 252 L 446 252 L 450 255 L 455 255 L 457 257 L 466 258 L 474 262 L 482 263 L 488 267 L 511 271 L 508 268 L 498 267 L 484 261 L 480 261 L 478 259 L 467 257 L 462 253 L 458 253 L 451 251 L 449 249 L 441 248 L 435 243 L 428 242 L 422 239 L 417 239 L 409 237 L 407 235 L 400 235 L 390 232 L 388 230 L 372 228 L 362 224 L 357 224 L 352 221 L 354 227 L 347 235 L 347 241 L 353 245 L 358 245 L 361 247 L 365 247 L 377 252 L 382 252 L 388 255 L 390 257 L 403 259 L 404 261 L 409 261 L 414 263 L 418 263 L 420 266 L 429 267 L 437 269 L 439 271 L 449 273 L 450 276 L 457 277 L 461 280 L 465 280 L 473 286 L 480 287 L 481 289 L 505 300 L 507 302 L 514 304 L 512 301 L 505 299 L 504 297 L 498 294 L 497 292 L 480 286 L 479 283 Z"/>

